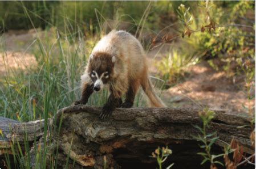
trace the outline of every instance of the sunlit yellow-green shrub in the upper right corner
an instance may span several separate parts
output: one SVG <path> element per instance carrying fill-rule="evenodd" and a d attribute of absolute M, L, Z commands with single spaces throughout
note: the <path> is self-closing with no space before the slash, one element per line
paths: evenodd
<path fill-rule="evenodd" d="M 238 58 L 246 60 L 250 58 L 254 62 L 254 23 L 241 18 L 254 11 L 254 2 L 235 2 L 228 3 L 229 7 L 217 7 L 218 3 L 212 3 L 209 7 L 202 7 L 200 19 L 197 22 L 196 29 L 202 29 L 212 20 L 216 23 L 215 31 L 200 31 L 193 33 L 188 39 L 190 44 L 196 44 L 196 50 L 204 54 L 206 60 L 219 58 L 225 62 L 224 70 L 229 69 L 231 62 L 237 62 Z M 202 5 L 204 6 L 204 5 Z M 206 12 L 208 11 L 208 13 Z M 209 18 L 211 18 L 209 20 Z"/>

